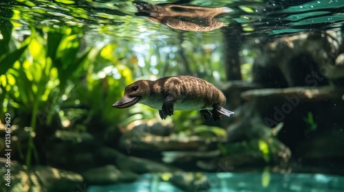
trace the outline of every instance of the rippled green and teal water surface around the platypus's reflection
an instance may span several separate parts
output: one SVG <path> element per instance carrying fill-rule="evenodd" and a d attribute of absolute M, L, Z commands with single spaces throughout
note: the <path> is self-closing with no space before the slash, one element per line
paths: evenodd
<path fill-rule="evenodd" d="M 140 1 L 138 1 L 140 2 Z M 209 8 L 200 10 L 211 12 L 212 8 L 223 8 L 223 10 L 213 10 L 210 19 L 197 20 L 195 16 L 185 15 L 191 18 L 191 23 L 200 24 L 203 27 L 212 25 L 213 29 L 228 25 L 229 23 L 240 23 L 243 31 L 240 36 L 251 38 L 266 37 L 275 38 L 283 35 L 290 35 L 299 32 L 312 32 L 324 29 L 336 29 L 342 27 L 343 22 L 343 2 L 341 1 L 144 1 L 146 4 L 152 3 L 159 5 L 184 5 L 187 12 L 187 6 Z M 142 7 L 142 8 L 141 8 Z M 38 28 L 43 27 L 61 27 L 76 26 L 85 30 L 85 40 L 88 43 L 97 41 L 111 42 L 113 38 L 125 40 L 149 41 L 164 40 L 169 42 L 169 38 L 175 39 L 178 34 L 178 28 L 168 23 L 172 22 L 173 17 L 178 15 L 178 7 L 168 8 L 177 13 L 166 14 L 167 19 L 147 19 L 149 12 L 144 10 L 144 5 L 134 3 L 134 1 L 2 1 L 2 17 L 10 10 L 22 14 L 23 18 L 15 22 L 22 24 L 19 29 L 25 33 L 30 30 L 28 27 L 34 25 Z M 147 8 L 148 9 L 148 8 Z M 153 8 L 151 8 L 153 10 Z M 158 8 L 156 8 L 158 10 Z M 169 11 L 161 8 L 158 13 Z M 191 10 L 193 11 L 193 10 Z M 155 14 L 155 10 L 152 11 Z M 152 15 L 154 15 L 152 13 Z M 158 14 L 157 13 L 157 14 Z M 175 15 L 177 14 L 177 15 Z M 162 14 L 163 15 L 163 14 Z M 151 16 L 153 18 L 154 16 Z M 159 16 L 157 16 L 159 17 Z M 163 16 L 162 16 L 163 17 Z M 214 19 L 214 20 L 212 20 Z M 184 19 L 187 21 L 187 19 Z M 192 21 L 194 20 L 194 21 Z M 163 23 L 160 25 L 158 23 Z M 208 23 L 207 23 L 208 22 Z M 213 22 L 213 23 L 212 23 Z M 219 22 L 219 23 L 217 23 Z M 191 25 L 190 23 L 188 23 Z M 169 27 L 166 27 L 168 25 Z M 133 27 L 135 26 L 135 27 Z M 217 26 L 217 27 L 215 27 Z M 197 28 L 197 27 L 196 27 Z M 213 36 L 216 40 L 219 35 L 212 32 L 213 29 L 199 30 L 204 32 L 205 36 Z M 186 31 L 192 31 L 188 29 Z M 195 30 L 194 30 L 195 31 Z M 186 33 L 186 36 L 191 36 Z M 201 36 L 201 35 L 200 35 Z M 106 42 L 106 43 L 107 43 Z M 133 41 L 137 43 L 136 41 Z"/>

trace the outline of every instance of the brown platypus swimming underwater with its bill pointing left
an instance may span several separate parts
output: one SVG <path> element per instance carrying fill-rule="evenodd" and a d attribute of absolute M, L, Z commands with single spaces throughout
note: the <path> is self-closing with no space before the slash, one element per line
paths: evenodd
<path fill-rule="evenodd" d="M 234 113 L 223 108 L 226 97 L 213 84 L 186 75 L 138 80 L 127 86 L 122 99 L 112 106 L 129 108 L 137 103 L 159 109 L 161 119 L 173 115 L 173 110 L 200 110 L 204 119 L 211 116 L 214 121 Z"/>

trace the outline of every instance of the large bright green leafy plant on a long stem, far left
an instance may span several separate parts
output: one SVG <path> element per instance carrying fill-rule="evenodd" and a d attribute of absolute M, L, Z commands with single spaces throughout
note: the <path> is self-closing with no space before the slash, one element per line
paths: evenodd
<path fill-rule="evenodd" d="M 4 42 L 10 42 L 7 39 L 10 35 L 3 37 L 6 38 Z M 20 43 L 20 48 L 1 57 L 1 66 L 5 66 L 1 68 L 1 91 L 6 93 L 1 98 L 2 112 L 15 111 L 14 117 L 23 126 L 30 122 L 25 160 L 28 167 L 32 150 L 35 151 L 36 128 L 52 123 L 52 117 L 58 114 L 56 106 L 65 93 L 67 81 L 87 58 L 88 51 L 80 53 L 80 45 L 80 32 L 71 28 L 61 28 L 60 32 L 50 28 L 37 32 L 31 28 L 30 36 Z M 41 124 L 38 125 L 37 120 Z M 37 154 L 35 156 L 37 159 Z"/>

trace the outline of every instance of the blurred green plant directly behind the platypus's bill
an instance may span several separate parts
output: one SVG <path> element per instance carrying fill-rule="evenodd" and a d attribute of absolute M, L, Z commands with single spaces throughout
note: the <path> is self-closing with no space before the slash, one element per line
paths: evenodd
<path fill-rule="evenodd" d="M 76 88 L 74 98 L 80 100 L 81 106 L 89 107 L 86 117 L 89 119 L 88 122 L 103 122 L 105 126 L 116 127 L 125 119 L 128 110 L 116 110 L 112 104 L 116 99 L 122 97 L 123 87 L 133 82 L 129 68 L 117 64 L 116 67 L 109 65 L 98 72 L 89 71 L 85 77 L 85 82 L 85 86 Z"/>

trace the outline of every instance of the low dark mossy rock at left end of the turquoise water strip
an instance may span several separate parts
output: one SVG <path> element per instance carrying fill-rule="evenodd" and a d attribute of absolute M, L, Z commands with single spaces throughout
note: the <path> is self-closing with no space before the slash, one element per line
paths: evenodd
<path fill-rule="evenodd" d="M 105 165 L 89 169 L 82 173 L 85 182 L 89 185 L 114 184 L 118 182 L 133 182 L 138 174 L 130 171 L 120 171 L 114 165 Z"/>

